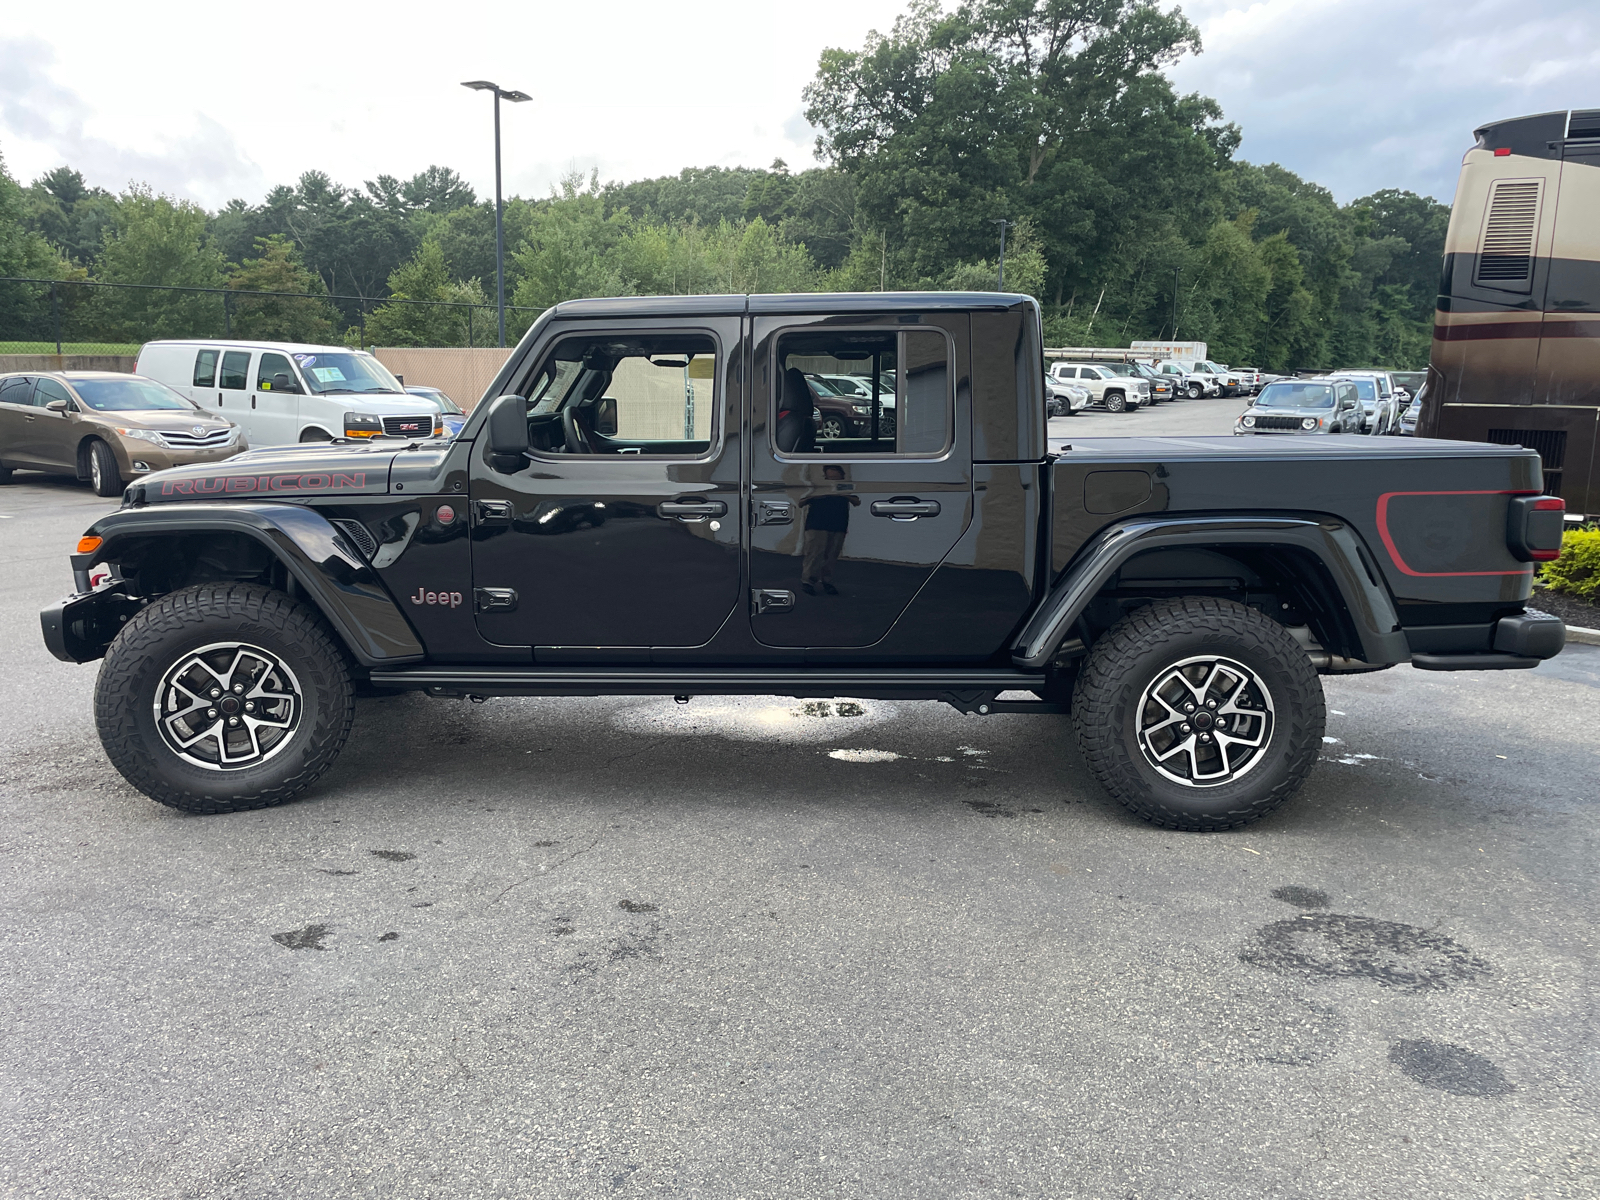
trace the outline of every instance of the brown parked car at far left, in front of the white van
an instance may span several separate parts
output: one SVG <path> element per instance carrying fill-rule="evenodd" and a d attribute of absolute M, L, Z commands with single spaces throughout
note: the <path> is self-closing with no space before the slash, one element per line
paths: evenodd
<path fill-rule="evenodd" d="M 246 448 L 232 421 L 142 374 L 0 374 L 0 483 L 22 467 L 75 475 L 96 496 L 118 496 L 123 483 L 152 470 Z"/>

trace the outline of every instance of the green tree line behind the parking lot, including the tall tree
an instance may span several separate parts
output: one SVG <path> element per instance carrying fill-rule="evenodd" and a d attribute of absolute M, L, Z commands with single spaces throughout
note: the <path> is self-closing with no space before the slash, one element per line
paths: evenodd
<path fill-rule="evenodd" d="M 1237 158 L 1219 106 L 1163 74 L 1198 51 L 1155 0 L 912 0 L 886 35 L 822 53 L 803 94 L 821 166 L 574 173 L 510 198 L 523 312 L 507 333 L 578 296 L 989 290 L 1005 229 L 1006 290 L 1040 299 L 1050 344 L 1176 336 L 1267 370 L 1424 365 L 1448 206 L 1395 189 L 1339 205 Z M 307 171 L 214 213 L 67 166 L 21 187 L 0 166 L 0 274 L 307 291 L 333 299 L 242 294 L 234 331 L 326 341 L 365 320 L 371 344 L 485 344 L 470 306 L 491 302 L 494 211 L 442 166 L 362 187 Z M 94 302 L 133 338 L 216 318 L 198 296 Z"/>

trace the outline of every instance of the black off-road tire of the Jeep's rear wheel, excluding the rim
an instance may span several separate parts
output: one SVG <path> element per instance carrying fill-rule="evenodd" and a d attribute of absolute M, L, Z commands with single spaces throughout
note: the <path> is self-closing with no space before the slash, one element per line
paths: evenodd
<path fill-rule="evenodd" d="M 1141 747 L 1141 698 L 1174 664 L 1205 656 L 1254 674 L 1272 725 L 1254 765 L 1194 787 L 1162 774 Z M 1326 706 L 1310 659 L 1283 626 L 1232 600 L 1189 595 L 1136 608 L 1094 642 L 1072 725 L 1090 770 L 1120 805 L 1165 829 L 1210 832 L 1258 821 L 1299 790 L 1322 749 Z"/>

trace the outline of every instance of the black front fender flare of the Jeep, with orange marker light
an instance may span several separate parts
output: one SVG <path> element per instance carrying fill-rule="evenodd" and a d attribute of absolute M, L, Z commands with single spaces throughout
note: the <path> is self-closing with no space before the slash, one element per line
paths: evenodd
<path fill-rule="evenodd" d="M 122 509 L 88 530 L 104 541 L 74 568 L 117 562 L 118 546 L 149 534 L 238 533 L 280 562 L 328 618 L 363 667 L 398 666 L 426 656 L 400 606 L 344 534 L 301 504 L 184 504 L 162 512 Z"/>

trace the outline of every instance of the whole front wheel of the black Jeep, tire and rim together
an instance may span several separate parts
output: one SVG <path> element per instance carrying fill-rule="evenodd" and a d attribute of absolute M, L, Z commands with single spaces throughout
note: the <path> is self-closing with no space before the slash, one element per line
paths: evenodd
<path fill-rule="evenodd" d="M 94 685 L 112 765 L 187 813 L 293 800 L 338 757 L 352 717 L 349 669 L 322 618 L 251 584 L 190 587 L 142 608 Z"/>

